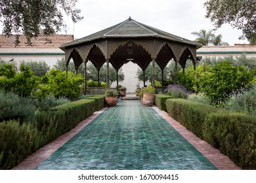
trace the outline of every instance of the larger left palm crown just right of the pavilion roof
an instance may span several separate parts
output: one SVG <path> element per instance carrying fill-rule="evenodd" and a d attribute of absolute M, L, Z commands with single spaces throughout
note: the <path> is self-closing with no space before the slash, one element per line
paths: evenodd
<path fill-rule="evenodd" d="M 212 33 L 213 30 L 214 29 L 206 31 L 205 29 L 201 29 L 199 32 L 192 32 L 192 35 L 198 36 L 195 41 L 200 42 L 203 44 L 203 46 L 208 46 L 208 44 L 212 42 L 212 39 L 215 37 L 215 35 Z"/>

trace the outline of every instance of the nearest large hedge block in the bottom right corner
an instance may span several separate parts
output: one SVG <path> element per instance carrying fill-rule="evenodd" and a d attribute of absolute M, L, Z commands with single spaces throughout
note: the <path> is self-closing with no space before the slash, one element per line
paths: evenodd
<path fill-rule="evenodd" d="M 207 116 L 203 137 L 243 169 L 256 169 L 256 118 L 219 111 Z"/>

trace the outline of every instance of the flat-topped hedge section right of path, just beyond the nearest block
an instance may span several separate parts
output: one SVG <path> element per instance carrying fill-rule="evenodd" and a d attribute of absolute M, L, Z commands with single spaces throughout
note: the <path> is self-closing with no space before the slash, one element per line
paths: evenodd
<path fill-rule="evenodd" d="M 167 99 L 166 107 L 169 116 L 200 138 L 203 138 L 203 123 L 207 114 L 217 112 L 218 110 L 211 105 L 185 99 Z"/>

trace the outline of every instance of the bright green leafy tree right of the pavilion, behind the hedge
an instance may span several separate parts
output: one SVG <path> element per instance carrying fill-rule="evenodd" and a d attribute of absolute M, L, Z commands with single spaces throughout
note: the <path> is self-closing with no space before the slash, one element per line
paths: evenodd
<path fill-rule="evenodd" d="M 248 71 L 244 65 L 234 66 L 228 61 L 213 65 L 199 65 L 179 72 L 179 84 L 194 92 L 206 95 L 213 105 L 222 105 L 230 93 L 241 88 L 249 88 L 253 82 L 254 70 Z"/>

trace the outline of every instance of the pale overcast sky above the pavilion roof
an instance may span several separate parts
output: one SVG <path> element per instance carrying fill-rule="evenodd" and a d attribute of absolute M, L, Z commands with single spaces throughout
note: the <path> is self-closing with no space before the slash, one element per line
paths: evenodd
<path fill-rule="evenodd" d="M 68 34 L 75 39 L 91 35 L 97 31 L 119 24 L 131 16 L 133 20 L 150 25 L 173 35 L 194 40 L 192 31 L 213 29 L 213 24 L 205 18 L 203 3 L 206 0 L 78 0 L 84 19 L 73 25 L 71 18 L 65 17 Z M 226 24 L 215 32 L 230 45 L 247 43 L 239 40 L 242 31 Z"/>

